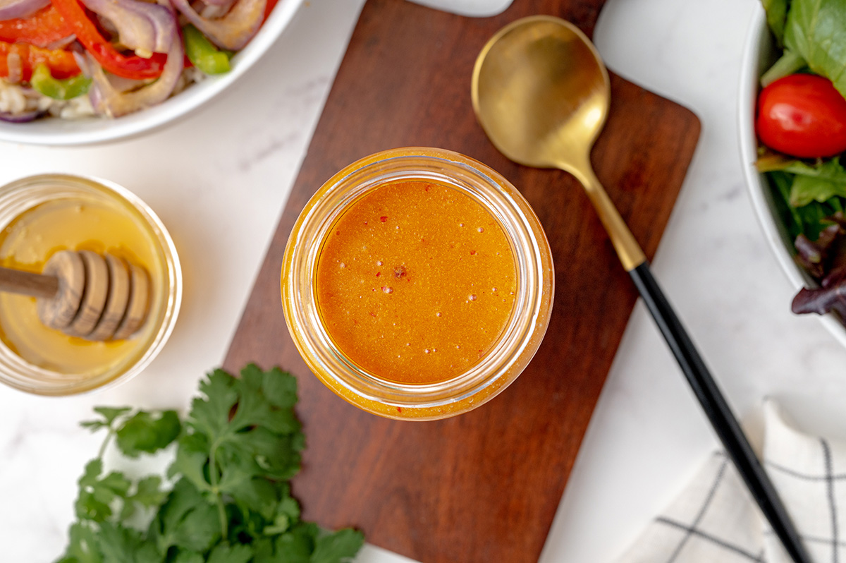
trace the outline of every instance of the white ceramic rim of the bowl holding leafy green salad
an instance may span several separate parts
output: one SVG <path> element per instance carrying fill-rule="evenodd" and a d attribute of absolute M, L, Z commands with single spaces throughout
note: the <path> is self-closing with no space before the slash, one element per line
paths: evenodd
<path fill-rule="evenodd" d="M 741 63 L 738 104 L 740 155 L 743 158 L 746 187 L 749 189 L 752 206 L 755 207 L 755 214 L 764 229 L 766 240 L 784 273 L 787 274 L 790 284 L 799 291 L 807 285 L 816 285 L 816 282 L 794 261 L 793 243 L 778 217 L 770 186 L 763 174 L 759 174 L 755 168 L 758 148 L 755 137 L 755 100 L 760 87 L 759 79 L 761 74 L 776 61 L 776 58 L 777 47 L 766 26 L 766 14 L 761 8 L 755 13 L 750 23 Z M 784 303 L 784 306 L 789 306 L 789 303 Z M 820 319 L 834 338 L 846 345 L 846 328 L 840 323 L 838 317 L 829 313 L 822 315 Z"/>

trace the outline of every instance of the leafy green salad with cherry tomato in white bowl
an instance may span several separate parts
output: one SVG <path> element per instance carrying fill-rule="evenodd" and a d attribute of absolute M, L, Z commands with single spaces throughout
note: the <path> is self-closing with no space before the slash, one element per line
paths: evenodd
<path fill-rule="evenodd" d="M 806 287 L 795 296 L 793 311 L 831 312 L 843 322 L 846 0 L 763 0 L 763 5 L 766 31 L 752 37 L 744 62 L 745 71 L 755 73 L 756 87 L 747 92 L 752 100 L 741 100 L 741 123 L 748 124 L 754 113 L 754 135 L 741 134 L 742 148 L 754 151 L 760 174 L 750 172 L 756 176 L 750 178 L 753 198 L 759 211 L 770 214 L 762 217 L 765 229 L 778 231 L 777 246 L 786 246 L 799 265 Z M 770 228 L 773 218 L 776 229 Z"/>

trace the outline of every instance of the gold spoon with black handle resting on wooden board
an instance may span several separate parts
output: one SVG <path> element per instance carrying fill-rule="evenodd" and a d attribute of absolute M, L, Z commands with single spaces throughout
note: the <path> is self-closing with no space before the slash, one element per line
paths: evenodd
<path fill-rule="evenodd" d="M 585 34 L 563 19 L 533 16 L 499 30 L 482 48 L 471 96 L 479 123 L 506 157 L 525 166 L 561 168 L 585 187 L 620 262 L 753 498 L 793 560 L 810 563 L 749 440 L 593 173 L 591 147 L 608 114 L 609 85 L 602 58 Z"/>

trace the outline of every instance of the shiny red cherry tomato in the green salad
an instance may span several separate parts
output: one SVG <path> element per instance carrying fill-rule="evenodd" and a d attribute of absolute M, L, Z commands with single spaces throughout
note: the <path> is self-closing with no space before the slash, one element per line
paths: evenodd
<path fill-rule="evenodd" d="M 846 151 L 846 98 L 821 76 L 785 76 L 761 91 L 755 130 L 778 152 L 831 157 Z"/>

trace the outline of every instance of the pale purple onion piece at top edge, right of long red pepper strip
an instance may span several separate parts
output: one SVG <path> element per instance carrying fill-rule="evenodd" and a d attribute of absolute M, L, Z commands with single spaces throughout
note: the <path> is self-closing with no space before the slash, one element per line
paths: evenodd
<path fill-rule="evenodd" d="M 176 33 L 176 19 L 169 8 L 139 0 L 82 0 L 82 3 L 108 19 L 118 30 L 121 44 L 140 56 L 168 52 Z"/>

